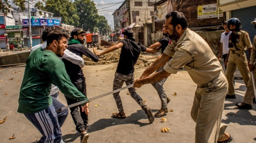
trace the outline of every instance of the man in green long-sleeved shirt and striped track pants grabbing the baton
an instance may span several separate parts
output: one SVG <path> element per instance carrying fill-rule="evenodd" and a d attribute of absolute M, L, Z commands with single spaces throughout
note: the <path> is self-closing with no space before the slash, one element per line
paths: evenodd
<path fill-rule="evenodd" d="M 67 109 L 56 113 L 55 109 L 64 105 L 49 96 L 51 85 L 59 87 L 66 97 L 79 101 L 87 100 L 74 87 L 67 75 L 65 65 L 59 59 L 67 48 L 69 36 L 61 31 L 51 31 L 47 37 L 47 47 L 38 48 L 27 58 L 22 86 L 20 87 L 18 112 L 40 131 L 39 142 L 56 142 L 62 140 L 61 126 L 67 118 Z M 81 105 L 82 111 L 89 113 L 88 102 Z M 88 135 L 84 135 L 87 142 Z"/>

